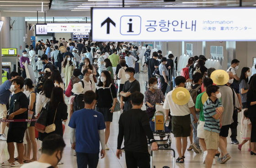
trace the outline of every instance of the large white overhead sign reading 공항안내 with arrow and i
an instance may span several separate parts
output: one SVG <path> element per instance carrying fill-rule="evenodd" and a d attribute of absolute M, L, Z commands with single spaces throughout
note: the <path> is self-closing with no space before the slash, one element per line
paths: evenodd
<path fill-rule="evenodd" d="M 255 13 L 255 7 L 92 8 L 92 40 L 256 41 Z"/>

